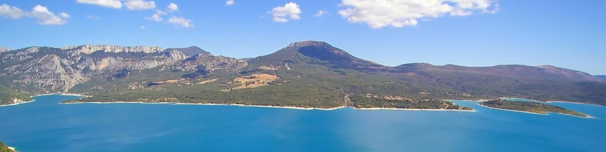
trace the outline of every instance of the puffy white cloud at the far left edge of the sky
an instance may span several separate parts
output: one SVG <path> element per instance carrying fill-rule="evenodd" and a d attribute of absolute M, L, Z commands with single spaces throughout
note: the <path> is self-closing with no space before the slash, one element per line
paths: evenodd
<path fill-rule="evenodd" d="M 48 8 L 42 5 L 36 5 L 32 8 L 31 12 L 24 12 L 23 10 L 17 7 L 11 7 L 7 4 L 0 5 L 0 16 L 5 16 L 13 19 L 19 19 L 21 17 L 31 17 L 38 20 L 38 24 L 51 25 L 57 24 L 62 25 L 65 24 L 65 19 L 70 18 L 70 15 L 67 13 L 59 13 L 59 16 L 55 15 L 55 13 L 50 12 Z"/>

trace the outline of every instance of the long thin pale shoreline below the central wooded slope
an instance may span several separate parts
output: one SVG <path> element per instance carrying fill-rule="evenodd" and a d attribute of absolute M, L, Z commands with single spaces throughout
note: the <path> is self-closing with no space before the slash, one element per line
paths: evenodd
<path fill-rule="evenodd" d="M 172 104 L 172 105 L 225 105 L 225 106 L 241 106 L 241 107 L 261 107 L 261 108 L 289 108 L 297 110 L 337 110 L 340 108 L 352 108 L 354 110 L 411 110 L 411 111 L 464 111 L 476 112 L 476 110 L 454 110 L 454 109 L 412 109 L 412 108 L 355 108 L 349 106 L 335 108 L 302 108 L 302 107 L 286 107 L 286 106 L 268 106 L 268 105 L 243 105 L 243 104 L 190 104 L 178 102 L 74 102 L 74 103 L 59 103 L 59 104 Z"/>

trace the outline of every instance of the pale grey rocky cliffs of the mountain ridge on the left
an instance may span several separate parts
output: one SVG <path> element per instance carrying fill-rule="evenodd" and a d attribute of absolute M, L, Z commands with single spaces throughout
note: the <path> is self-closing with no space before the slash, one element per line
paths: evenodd
<path fill-rule="evenodd" d="M 0 53 L 0 81 L 36 93 L 67 92 L 93 79 L 107 79 L 116 73 L 171 67 L 173 70 L 209 72 L 238 70 L 245 61 L 223 56 L 193 56 L 160 47 L 81 45 L 73 47 L 28 47 Z"/>

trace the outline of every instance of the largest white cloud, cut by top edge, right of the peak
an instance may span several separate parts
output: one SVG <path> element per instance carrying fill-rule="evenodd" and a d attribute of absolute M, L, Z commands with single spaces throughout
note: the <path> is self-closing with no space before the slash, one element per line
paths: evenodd
<path fill-rule="evenodd" d="M 446 14 L 467 16 L 498 11 L 496 0 L 342 0 L 339 5 L 348 7 L 339 10 L 348 22 L 365 23 L 371 28 L 414 26 L 417 19 Z"/>

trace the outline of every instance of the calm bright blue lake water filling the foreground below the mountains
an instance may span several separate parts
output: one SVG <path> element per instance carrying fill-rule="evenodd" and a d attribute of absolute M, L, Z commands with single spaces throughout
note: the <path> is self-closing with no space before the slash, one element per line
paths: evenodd
<path fill-rule="evenodd" d="M 0 140 L 33 151 L 606 151 L 606 108 L 589 114 L 493 110 L 295 110 L 224 105 L 58 104 L 0 107 Z"/>

